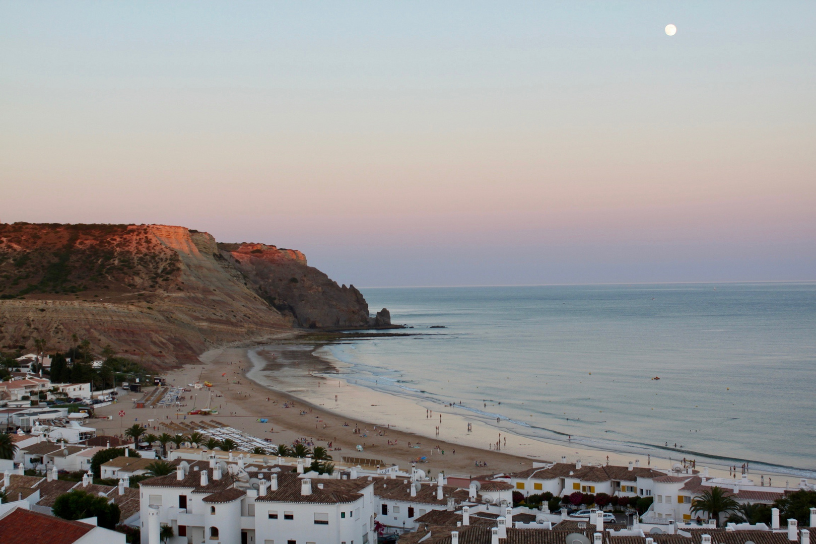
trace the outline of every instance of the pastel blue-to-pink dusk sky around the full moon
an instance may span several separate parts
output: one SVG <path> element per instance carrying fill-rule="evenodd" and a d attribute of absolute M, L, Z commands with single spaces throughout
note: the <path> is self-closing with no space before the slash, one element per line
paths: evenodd
<path fill-rule="evenodd" d="M 180 224 L 357 286 L 816 280 L 814 20 L 0 2 L 0 221 Z"/>

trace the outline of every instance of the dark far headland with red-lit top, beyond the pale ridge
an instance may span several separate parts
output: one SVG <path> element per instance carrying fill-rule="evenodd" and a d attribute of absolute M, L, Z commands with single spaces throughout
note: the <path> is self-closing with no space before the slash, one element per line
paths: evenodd
<path fill-rule="evenodd" d="M 219 247 L 224 259 L 246 276 L 256 293 L 299 326 L 344 329 L 373 325 L 360 291 L 353 285 L 337 285 L 308 266 L 299 251 L 264 244 Z"/>

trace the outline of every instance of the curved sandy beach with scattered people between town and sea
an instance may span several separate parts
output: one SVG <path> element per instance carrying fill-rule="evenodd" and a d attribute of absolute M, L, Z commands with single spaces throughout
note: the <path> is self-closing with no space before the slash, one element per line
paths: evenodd
<path fill-rule="evenodd" d="M 211 350 L 200 357 L 200 365 L 166 374 L 168 385 L 205 380 L 213 384 L 211 391 L 187 393 L 182 409 L 135 409 L 132 403 L 141 395 L 129 394 L 97 410 L 100 416 L 112 415 L 113 420 L 96 419 L 89 424 L 100 434 L 121 434 L 123 428 L 141 422 L 158 434 L 164 431 L 162 421 L 202 418 L 184 414 L 193 407 L 204 407 L 211 394 L 211 407 L 220 413 L 202 419 L 223 422 L 273 444 L 291 444 L 302 438 L 323 446 L 331 442 L 340 449 L 330 452 L 338 461 L 348 455 L 410 467 L 415 459 L 425 457 L 427 463 L 421 467 L 432 474 L 477 475 L 519 471 L 534 461 L 560 461 L 561 456 L 568 462 L 580 459 L 617 465 L 635 460 L 631 455 L 516 436 L 502 431 L 500 424 L 499 428 L 488 426 L 469 414 L 457 414 L 455 406 L 439 405 L 431 414 L 413 400 L 347 383 L 335 365 L 313 355 L 313 344 L 296 342 Z M 118 416 L 120 410 L 125 411 L 124 417 Z M 268 418 L 268 423 L 258 422 L 259 418 Z M 355 428 L 361 429 L 360 434 L 354 433 Z M 497 451 L 494 444 L 499 440 Z M 358 444 L 362 453 L 357 451 Z M 667 469 L 670 463 L 654 457 L 640 462 L 643 467 L 659 469 Z M 710 472 L 728 474 L 726 467 L 710 467 Z"/>

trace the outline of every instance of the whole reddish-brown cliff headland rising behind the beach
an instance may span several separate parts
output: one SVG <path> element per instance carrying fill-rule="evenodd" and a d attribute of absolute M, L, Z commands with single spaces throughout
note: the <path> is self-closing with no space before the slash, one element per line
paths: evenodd
<path fill-rule="evenodd" d="M 0 349 L 65 349 L 76 334 L 162 365 L 293 327 L 369 324 L 390 321 L 299 251 L 167 225 L 0 224 Z"/>

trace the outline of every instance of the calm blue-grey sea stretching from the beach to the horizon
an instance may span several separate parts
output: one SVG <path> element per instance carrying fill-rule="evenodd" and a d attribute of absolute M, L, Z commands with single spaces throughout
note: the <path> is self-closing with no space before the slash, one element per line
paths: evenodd
<path fill-rule="evenodd" d="M 816 283 L 362 291 L 419 335 L 326 347 L 358 385 L 522 436 L 816 477 Z"/>

